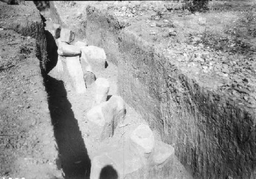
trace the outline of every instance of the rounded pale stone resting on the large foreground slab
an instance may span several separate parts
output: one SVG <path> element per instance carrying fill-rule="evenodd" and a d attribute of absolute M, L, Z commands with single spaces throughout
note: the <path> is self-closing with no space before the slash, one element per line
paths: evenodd
<path fill-rule="evenodd" d="M 142 158 L 151 156 L 155 147 L 153 131 L 146 124 L 141 124 L 132 132 L 130 136 L 130 149 Z"/>

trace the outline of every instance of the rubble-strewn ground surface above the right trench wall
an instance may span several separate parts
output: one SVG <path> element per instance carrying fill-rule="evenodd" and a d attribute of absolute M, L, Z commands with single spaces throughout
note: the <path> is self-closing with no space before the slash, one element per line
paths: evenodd
<path fill-rule="evenodd" d="M 200 13 L 182 10 L 183 4 L 175 1 L 55 4 L 61 7 L 58 9 L 61 20 L 77 27 L 86 20 L 88 5 L 113 15 L 124 25 L 124 31 L 154 46 L 156 52 L 164 54 L 200 86 L 221 90 L 249 111 L 255 109 L 256 5 L 253 1 L 210 2 L 210 10 Z M 164 27 L 164 19 L 171 26 Z M 170 31 L 175 31 L 177 36 L 169 36 Z"/>

